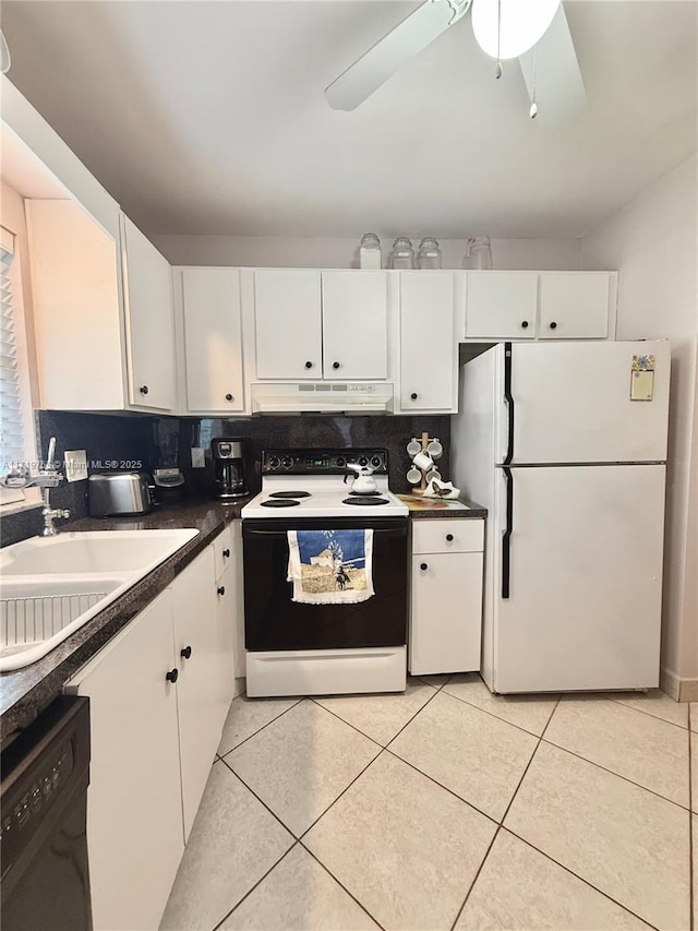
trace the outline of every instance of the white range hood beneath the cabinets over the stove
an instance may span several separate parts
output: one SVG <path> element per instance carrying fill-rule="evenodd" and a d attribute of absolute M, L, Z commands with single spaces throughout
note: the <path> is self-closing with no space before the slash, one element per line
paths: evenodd
<path fill-rule="evenodd" d="M 250 396 L 253 414 L 393 411 L 393 385 L 385 382 L 254 382 Z"/>

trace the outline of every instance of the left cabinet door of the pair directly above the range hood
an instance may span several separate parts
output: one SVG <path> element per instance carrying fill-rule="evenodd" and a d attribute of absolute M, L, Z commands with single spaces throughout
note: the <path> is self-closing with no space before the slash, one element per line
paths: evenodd
<path fill-rule="evenodd" d="M 322 378 L 320 272 L 255 272 L 254 319 L 257 378 Z"/>

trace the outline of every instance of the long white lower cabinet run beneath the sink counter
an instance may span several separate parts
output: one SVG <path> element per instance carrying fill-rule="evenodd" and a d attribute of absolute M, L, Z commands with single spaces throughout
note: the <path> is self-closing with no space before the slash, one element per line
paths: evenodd
<path fill-rule="evenodd" d="M 159 926 L 210 773 L 234 690 L 234 563 L 216 574 L 227 533 L 65 687 L 89 697 L 95 931 Z"/>

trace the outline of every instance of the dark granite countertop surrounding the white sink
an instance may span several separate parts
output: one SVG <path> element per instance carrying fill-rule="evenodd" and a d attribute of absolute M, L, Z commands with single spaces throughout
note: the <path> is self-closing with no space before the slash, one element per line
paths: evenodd
<path fill-rule="evenodd" d="M 25 728 L 58 695 L 63 684 L 139 611 L 198 556 L 250 499 L 234 504 L 212 500 L 161 505 L 139 517 L 85 517 L 65 524 L 73 530 L 141 530 L 186 527 L 200 533 L 157 569 L 136 582 L 63 643 L 36 663 L 0 673 L 0 742 Z"/>

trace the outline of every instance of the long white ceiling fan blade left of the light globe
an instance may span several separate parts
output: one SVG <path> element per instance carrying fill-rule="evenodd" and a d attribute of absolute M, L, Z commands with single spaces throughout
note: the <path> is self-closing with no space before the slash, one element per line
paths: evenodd
<path fill-rule="evenodd" d="M 335 110 L 353 110 L 410 58 L 460 19 L 470 2 L 426 0 L 325 88 Z"/>

